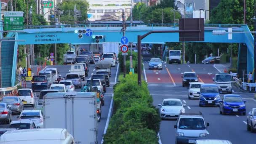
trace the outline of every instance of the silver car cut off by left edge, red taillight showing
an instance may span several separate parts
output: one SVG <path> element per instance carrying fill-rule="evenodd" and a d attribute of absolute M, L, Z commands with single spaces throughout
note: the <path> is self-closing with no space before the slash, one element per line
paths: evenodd
<path fill-rule="evenodd" d="M 0 102 L 0 122 L 5 122 L 6 124 L 11 123 L 11 113 L 10 107 L 5 103 Z"/>

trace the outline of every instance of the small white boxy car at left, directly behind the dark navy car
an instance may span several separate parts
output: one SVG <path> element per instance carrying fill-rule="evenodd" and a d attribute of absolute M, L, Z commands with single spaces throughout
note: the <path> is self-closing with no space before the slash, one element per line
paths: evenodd
<path fill-rule="evenodd" d="M 35 96 L 36 94 L 33 93 L 31 88 L 21 88 L 17 91 L 19 98 L 24 101 L 24 105 L 31 105 L 32 107 L 35 106 Z"/>

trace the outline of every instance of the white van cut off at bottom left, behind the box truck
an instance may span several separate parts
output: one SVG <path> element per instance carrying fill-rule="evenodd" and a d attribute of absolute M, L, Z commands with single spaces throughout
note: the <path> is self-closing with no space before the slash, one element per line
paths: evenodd
<path fill-rule="evenodd" d="M 1 144 L 75 144 L 73 136 L 64 128 L 37 128 L 7 131 Z"/>

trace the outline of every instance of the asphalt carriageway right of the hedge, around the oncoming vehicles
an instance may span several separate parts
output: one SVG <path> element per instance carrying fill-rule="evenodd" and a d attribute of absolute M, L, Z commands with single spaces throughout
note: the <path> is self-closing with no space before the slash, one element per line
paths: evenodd
<path fill-rule="evenodd" d="M 220 115 L 219 107 L 199 107 L 198 100 L 188 99 L 188 88 L 181 86 L 183 72 L 195 71 L 200 77 L 199 81 L 212 83 L 212 77 L 218 73 L 213 64 L 163 64 L 163 70 L 148 70 L 148 63 L 144 62 L 149 91 L 153 97 L 153 104 L 158 107 L 163 99 L 181 99 L 186 112 L 202 112 L 205 121 L 210 123 L 208 127 L 209 139 L 226 139 L 232 144 L 255 144 L 256 133 L 246 131 L 246 116 L 243 115 Z M 256 107 L 253 93 L 240 94 L 246 102 L 246 113 Z M 162 144 L 175 143 L 176 120 L 162 120 L 160 125 L 160 140 Z"/>

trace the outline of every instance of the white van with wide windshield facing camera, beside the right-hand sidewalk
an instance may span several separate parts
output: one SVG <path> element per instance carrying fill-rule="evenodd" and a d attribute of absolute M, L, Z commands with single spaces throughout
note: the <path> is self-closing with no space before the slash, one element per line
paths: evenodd
<path fill-rule="evenodd" d="M 213 81 L 219 87 L 219 91 L 232 93 L 232 76 L 227 73 L 218 73 Z"/>

